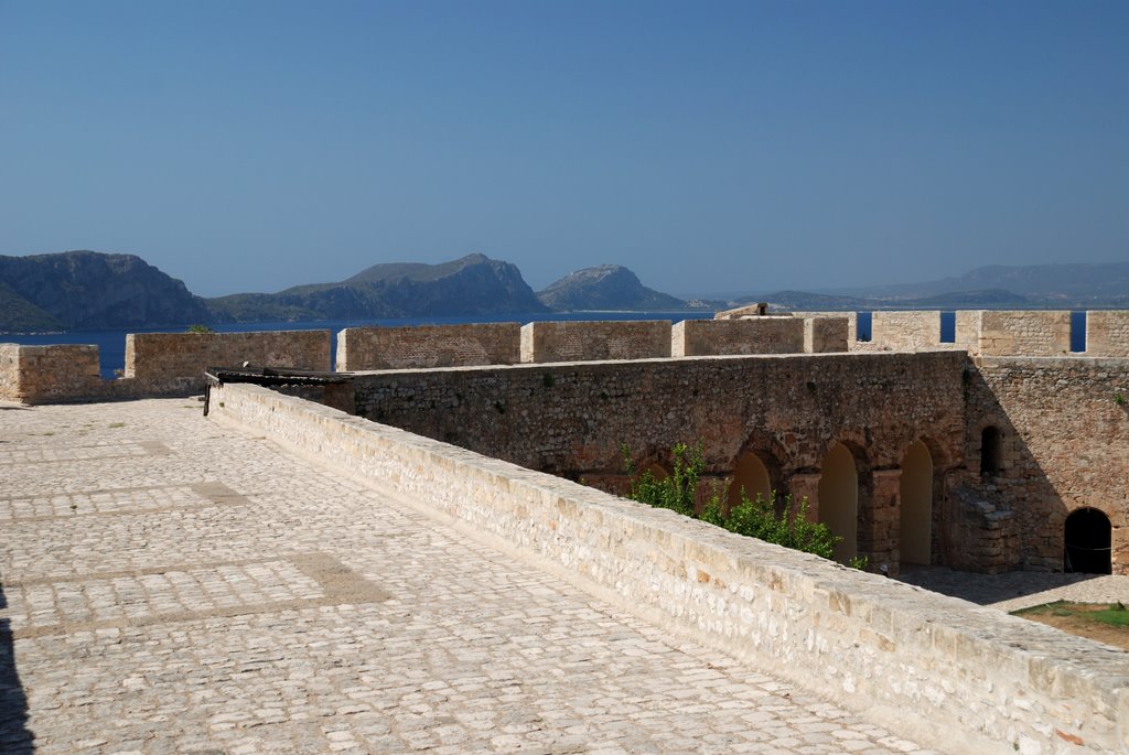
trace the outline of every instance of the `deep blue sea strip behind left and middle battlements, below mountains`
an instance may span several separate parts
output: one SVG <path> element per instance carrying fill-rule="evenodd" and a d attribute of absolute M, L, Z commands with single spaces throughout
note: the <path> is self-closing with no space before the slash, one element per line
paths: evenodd
<path fill-rule="evenodd" d="M 405 317 L 402 319 L 326 319 L 305 323 L 237 323 L 233 325 L 215 325 L 222 333 L 240 331 L 331 331 L 333 333 L 333 354 L 336 360 L 338 333 L 347 327 L 365 325 L 463 325 L 466 323 L 532 323 L 539 321 L 592 321 L 592 319 L 668 319 L 676 323 L 683 319 L 702 319 L 712 317 L 712 311 L 579 311 L 579 313 L 539 313 L 534 315 L 479 315 L 474 317 Z M 167 333 L 176 328 L 137 328 L 123 331 L 70 331 L 68 333 L 50 333 L 43 335 L 5 335 L 0 334 L 0 343 L 24 343 L 29 345 L 50 345 L 53 343 L 93 343 L 98 346 L 102 362 L 102 377 L 112 379 L 114 370 L 125 368 L 125 334 L 126 333 Z"/>

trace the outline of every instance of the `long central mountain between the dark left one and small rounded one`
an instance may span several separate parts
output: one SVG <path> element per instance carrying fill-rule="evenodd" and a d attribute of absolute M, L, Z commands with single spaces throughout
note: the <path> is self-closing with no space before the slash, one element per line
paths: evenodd
<path fill-rule="evenodd" d="M 472 254 L 438 265 L 382 264 L 339 283 L 208 299 L 220 322 L 445 317 L 544 311 L 520 271 Z"/>

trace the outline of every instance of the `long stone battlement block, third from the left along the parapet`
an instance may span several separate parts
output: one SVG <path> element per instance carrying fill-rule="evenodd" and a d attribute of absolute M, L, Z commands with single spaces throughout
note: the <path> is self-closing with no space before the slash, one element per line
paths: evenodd
<path fill-rule="evenodd" d="M 518 323 L 347 327 L 338 335 L 339 372 L 361 370 L 515 365 Z"/>

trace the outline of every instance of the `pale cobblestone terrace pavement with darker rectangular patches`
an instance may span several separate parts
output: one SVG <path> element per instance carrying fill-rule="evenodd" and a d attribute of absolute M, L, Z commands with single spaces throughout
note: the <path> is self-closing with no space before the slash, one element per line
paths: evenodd
<path fill-rule="evenodd" d="M 3 753 L 936 752 L 193 401 L 0 404 L 0 481 Z"/>

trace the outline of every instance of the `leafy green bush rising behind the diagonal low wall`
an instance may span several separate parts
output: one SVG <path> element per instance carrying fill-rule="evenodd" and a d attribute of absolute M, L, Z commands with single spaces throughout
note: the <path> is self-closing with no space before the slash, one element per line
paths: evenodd
<path fill-rule="evenodd" d="M 824 559 L 831 558 L 835 543 L 841 539 L 832 535 L 826 525 L 807 520 L 806 498 L 800 500 L 798 507 L 794 507 L 791 495 L 786 495 L 778 504 L 774 491 L 767 500 L 760 493 L 755 499 L 750 499 L 742 491 L 741 502 L 726 511 L 721 504 L 721 491 L 715 488 L 699 515 L 694 498 L 698 481 L 706 468 L 701 442 L 693 449 L 685 444 L 677 444 L 671 449 L 674 471 L 664 480 L 656 479 L 647 471 L 636 476 L 636 465 L 627 444 L 620 446 L 620 451 L 624 469 L 633 477 L 628 498 L 640 503 L 671 509 L 724 527 L 730 533 L 814 553 Z"/>

